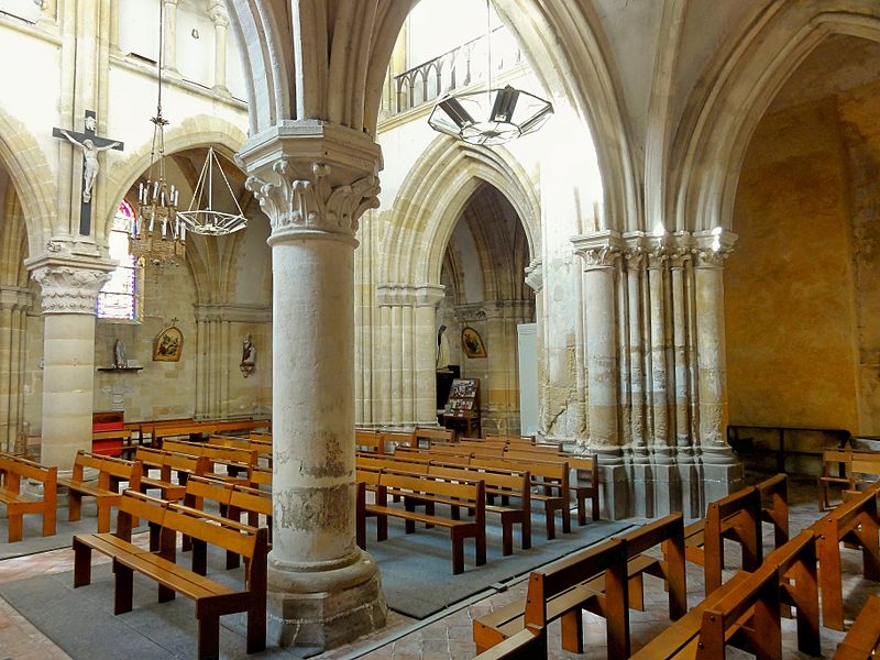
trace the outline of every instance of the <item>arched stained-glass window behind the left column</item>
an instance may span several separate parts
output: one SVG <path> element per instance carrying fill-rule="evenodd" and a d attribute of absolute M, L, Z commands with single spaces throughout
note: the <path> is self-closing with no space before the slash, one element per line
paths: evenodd
<path fill-rule="evenodd" d="M 110 258 L 118 261 L 119 265 L 98 294 L 99 319 L 136 321 L 140 317 L 139 265 L 129 252 L 129 231 L 133 220 L 134 209 L 123 199 L 110 230 Z"/>

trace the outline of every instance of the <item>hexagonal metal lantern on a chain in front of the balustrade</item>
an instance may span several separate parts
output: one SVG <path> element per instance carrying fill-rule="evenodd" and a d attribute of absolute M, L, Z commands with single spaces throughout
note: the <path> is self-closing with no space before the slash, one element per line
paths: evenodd
<path fill-rule="evenodd" d="M 440 99 L 428 118 L 435 131 L 470 144 L 494 146 L 537 131 L 553 114 L 553 106 L 534 94 L 492 88 L 492 36 L 486 0 L 486 89 L 450 94 Z"/>

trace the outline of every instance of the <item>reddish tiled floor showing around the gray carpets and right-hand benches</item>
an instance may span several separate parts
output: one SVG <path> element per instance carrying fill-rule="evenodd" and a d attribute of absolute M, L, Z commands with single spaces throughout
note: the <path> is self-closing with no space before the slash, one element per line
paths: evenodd
<path fill-rule="evenodd" d="M 815 505 L 815 490 L 811 484 L 790 485 L 791 529 L 793 534 L 812 524 L 818 512 Z M 145 536 L 145 535 L 144 535 Z M 772 538 L 766 539 L 766 547 Z M 844 593 L 848 618 L 855 617 L 869 593 L 880 593 L 880 583 L 861 579 L 860 554 L 854 550 L 844 550 L 845 581 Z M 95 561 L 100 561 L 97 557 Z M 105 560 L 106 561 L 106 560 Z M 735 552 L 730 553 L 730 563 L 735 565 Z M 8 559 L 0 561 L 0 582 L 23 580 L 29 576 L 69 571 L 73 565 L 73 553 L 69 549 L 55 550 L 41 554 Z M 729 571 L 733 574 L 733 571 Z M 691 605 L 703 597 L 702 570 L 689 564 L 688 592 Z M 323 653 L 319 658 L 343 660 L 348 658 L 369 658 L 372 660 L 433 660 L 471 658 L 474 644 L 471 625 L 475 618 L 493 608 L 505 605 L 525 595 L 525 582 L 504 593 L 482 601 L 464 604 L 458 609 L 447 610 L 426 622 L 416 622 L 392 613 L 389 625 L 370 638 L 358 640 L 348 647 Z M 646 612 L 631 612 L 632 650 L 638 650 L 647 641 L 661 632 L 668 625 L 668 601 L 662 585 L 650 578 L 646 579 Z M 585 653 L 578 656 L 564 652 L 559 645 L 559 625 L 550 628 L 551 658 L 606 658 L 604 619 L 585 614 Z M 822 628 L 822 648 L 824 657 L 831 658 L 843 639 L 843 634 Z M 805 658 L 795 646 L 795 628 L 791 619 L 783 619 L 783 644 L 787 658 Z M 31 626 L 7 603 L 0 600 L 0 660 L 36 660 L 61 659 L 68 656 Z M 258 657 L 258 656 L 257 656 Z M 728 658 L 748 657 L 732 650 Z"/>

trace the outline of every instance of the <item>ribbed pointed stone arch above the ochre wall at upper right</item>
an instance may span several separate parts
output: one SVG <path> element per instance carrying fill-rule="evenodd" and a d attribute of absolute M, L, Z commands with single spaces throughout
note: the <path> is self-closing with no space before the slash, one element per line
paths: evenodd
<path fill-rule="evenodd" d="M 801 63 L 826 37 L 846 34 L 880 42 L 880 6 L 849 0 L 826 11 L 817 0 L 776 1 L 756 12 L 749 29 L 721 48 L 688 105 L 672 156 L 679 164 L 675 227 L 733 229 L 734 200 L 751 134 Z M 730 108 L 738 108 L 732 112 Z"/>

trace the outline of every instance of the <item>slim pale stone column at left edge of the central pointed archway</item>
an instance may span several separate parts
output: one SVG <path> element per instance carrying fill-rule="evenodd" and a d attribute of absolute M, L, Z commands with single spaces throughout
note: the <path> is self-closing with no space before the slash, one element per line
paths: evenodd
<path fill-rule="evenodd" d="M 437 426 L 437 306 L 446 296 L 441 284 L 416 287 L 416 426 Z"/>

